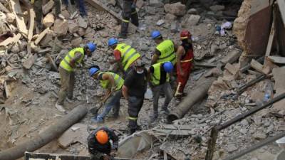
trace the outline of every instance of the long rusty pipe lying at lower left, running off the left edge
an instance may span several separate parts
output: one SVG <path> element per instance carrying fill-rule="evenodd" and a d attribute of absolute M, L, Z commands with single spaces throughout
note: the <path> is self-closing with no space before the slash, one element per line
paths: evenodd
<path fill-rule="evenodd" d="M 59 119 L 56 124 L 51 125 L 48 129 L 44 130 L 38 136 L 33 139 L 28 139 L 26 142 L 14 146 L 10 149 L 6 149 L 0 152 L 1 160 L 15 160 L 24 156 L 25 151 L 35 151 L 51 142 L 53 139 L 61 136 L 73 124 L 81 120 L 87 114 L 86 107 L 78 106 L 71 110 L 66 116 Z"/>

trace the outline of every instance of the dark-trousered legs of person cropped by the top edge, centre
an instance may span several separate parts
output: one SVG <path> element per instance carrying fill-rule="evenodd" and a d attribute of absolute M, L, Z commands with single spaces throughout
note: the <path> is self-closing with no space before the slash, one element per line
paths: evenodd
<path fill-rule="evenodd" d="M 138 26 L 138 12 L 135 9 L 136 3 L 137 0 L 123 0 L 123 19 L 121 23 L 119 38 L 127 38 L 130 19 L 135 26 Z"/>

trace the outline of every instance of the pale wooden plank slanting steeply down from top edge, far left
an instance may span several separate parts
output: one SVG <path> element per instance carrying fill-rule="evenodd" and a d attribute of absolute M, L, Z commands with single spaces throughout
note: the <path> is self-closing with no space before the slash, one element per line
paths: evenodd
<path fill-rule="evenodd" d="M 21 33 L 28 35 L 28 30 L 26 28 L 26 23 L 24 21 L 24 18 L 18 15 L 18 14 L 23 15 L 19 0 L 11 0 L 10 4 L 11 4 L 12 12 L 14 13 L 16 17 L 16 24 L 19 28 L 19 31 Z"/>

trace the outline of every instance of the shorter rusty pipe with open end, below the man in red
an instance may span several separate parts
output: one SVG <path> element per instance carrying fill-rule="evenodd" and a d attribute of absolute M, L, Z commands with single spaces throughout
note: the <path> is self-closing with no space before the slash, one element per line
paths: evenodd
<path fill-rule="evenodd" d="M 167 116 L 167 122 L 171 123 L 176 119 L 182 119 L 182 117 L 184 117 L 195 103 L 199 102 L 199 100 L 202 100 L 207 95 L 209 87 L 211 87 L 212 82 L 216 79 L 217 78 L 214 77 L 201 78 L 199 82 L 197 82 L 198 85 L 193 88 L 193 90 L 190 90 L 187 97 L 185 97 L 184 100 L 175 107 L 175 110 L 172 110 L 172 112 Z"/>

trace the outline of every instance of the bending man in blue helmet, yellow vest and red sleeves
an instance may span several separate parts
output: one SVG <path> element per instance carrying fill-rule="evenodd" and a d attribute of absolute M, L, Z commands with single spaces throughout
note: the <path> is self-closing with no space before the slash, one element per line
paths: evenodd
<path fill-rule="evenodd" d="M 123 75 L 126 75 L 135 61 L 140 58 L 140 53 L 138 53 L 137 50 L 128 44 L 118 43 L 118 40 L 115 38 L 108 40 L 108 46 L 114 50 L 113 53 L 115 56 L 115 60 L 110 63 L 117 63 Z"/>

